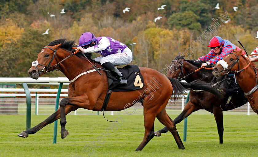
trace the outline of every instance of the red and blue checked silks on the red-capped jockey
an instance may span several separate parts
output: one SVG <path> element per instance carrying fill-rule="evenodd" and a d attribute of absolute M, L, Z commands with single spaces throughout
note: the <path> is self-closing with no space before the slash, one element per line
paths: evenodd
<path fill-rule="evenodd" d="M 236 45 L 232 44 L 230 41 L 228 41 L 226 39 L 224 39 L 223 41 L 224 41 L 224 45 L 222 47 L 221 54 L 218 55 L 216 58 L 213 58 L 217 54 L 212 49 L 212 50 L 209 51 L 208 54 L 206 54 L 206 55 L 204 55 L 204 56 L 202 56 L 198 59 L 202 60 L 202 61 L 208 61 L 209 60 L 210 64 L 214 64 L 214 63 L 217 63 L 219 60 L 223 59 L 226 55 L 228 55 L 230 52 L 232 52 L 236 48 Z"/>

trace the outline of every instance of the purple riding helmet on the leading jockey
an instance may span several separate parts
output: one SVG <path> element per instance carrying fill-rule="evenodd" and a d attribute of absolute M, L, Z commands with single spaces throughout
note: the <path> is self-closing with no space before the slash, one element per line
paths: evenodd
<path fill-rule="evenodd" d="M 92 44 L 92 42 L 96 41 L 96 37 L 91 32 L 85 32 L 83 33 L 79 38 L 79 46 L 82 48 L 88 48 L 89 46 L 94 46 L 95 44 Z"/>

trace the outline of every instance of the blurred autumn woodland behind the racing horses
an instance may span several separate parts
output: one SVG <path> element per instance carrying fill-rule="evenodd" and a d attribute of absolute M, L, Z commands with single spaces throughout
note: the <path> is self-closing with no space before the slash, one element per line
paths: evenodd
<path fill-rule="evenodd" d="M 217 3 L 220 9 L 215 9 Z M 130 11 L 123 13 L 125 7 Z M 131 64 L 160 71 L 205 30 L 210 32 L 210 24 L 216 24 L 212 18 L 226 15 L 225 10 L 230 21 L 219 21 L 216 36 L 242 48 L 240 41 L 250 54 L 258 45 L 257 0 L 0 0 L 0 77 L 29 77 L 27 71 L 43 47 L 60 38 L 78 43 L 84 32 L 109 36 L 131 50 L 130 43 L 136 43 Z M 154 22 L 158 16 L 162 18 Z M 42 35 L 48 28 L 49 34 Z M 190 59 L 209 52 L 206 46 L 215 36 L 210 34 L 202 37 L 202 50 Z M 65 76 L 54 71 L 43 77 Z"/>

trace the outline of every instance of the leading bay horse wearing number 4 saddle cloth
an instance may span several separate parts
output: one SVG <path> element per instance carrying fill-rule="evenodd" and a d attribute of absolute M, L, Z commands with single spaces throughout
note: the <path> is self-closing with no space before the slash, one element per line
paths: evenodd
<path fill-rule="evenodd" d="M 57 39 L 49 43 L 37 55 L 37 61 L 33 62 L 33 66 L 29 69 L 30 77 L 38 79 L 39 76 L 48 71 L 53 71 L 54 69 L 60 70 L 70 80 L 68 98 L 62 99 L 58 110 L 45 119 L 45 121 L 42 121 L 31 129 L 23 131 L 18 136 L 28 137 L 29 134 L 36 133 L 44 126 L 60 118 L 61 138 L 63 139 L 68 135 L 68 131 L 65 129 L 66 114 L 78 108 L 101 111 L 105 95 L 108 91 L 107 75 L 103 70 L 99 71 L 102 74 L 100 75 L 93 69 L 92 65 L 99 68 L 103 67 L 100 63 L 94 62 L 91 59 L 92 54 L 86 53 L 86 59 L 82 55 L 82 52 L 72 53 L 74 51 L 72 49 L 74 45 L 74 41 Z M 87 73 L 81 75 L 85 72 Z M 170 96 L 172 93 L 182 95 L 186 88 L 205 89 L 216 95 L 219 95 L 219 93 L 205 83 L 181 83 L 178 80 L 166 77 L 154 69 L 140 67 L 140 73 L 143 76 L 145 86 L 129 92 L 112 92 L 105 111 L 124 110 L 133 106 L 132 102 L 140 102 L 143 105 L 145 133 L 143 141 L 135 151 L 142 150 L 154 137 L 155 117 L 172 133 L 178 148 L 184 149 L 185 147 L 178 135 L 176 126 L 166 113 L 165 107 Z M 155 81 L 156 83 L 153 84 Z"/>

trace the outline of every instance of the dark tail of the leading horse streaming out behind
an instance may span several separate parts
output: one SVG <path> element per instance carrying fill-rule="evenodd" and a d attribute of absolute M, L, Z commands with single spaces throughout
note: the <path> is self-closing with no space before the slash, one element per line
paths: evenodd
<path fill-rule="evenodd" d="M 217 97 L 222 97 L 223 92 L 216 90 L 215 88 L 211 87 L 208 82 L 204 82 L 201 80 L 194 80 L 190 83 L 181 82 L 174 78 L 168 77 L 172 86 L 173 86 L 173 94 L 175 95 L 174 100 L 182 97 L 186 94 L 186 90 L 204 90 L 211 92 L 212 94 L 216 95 Z"/>

